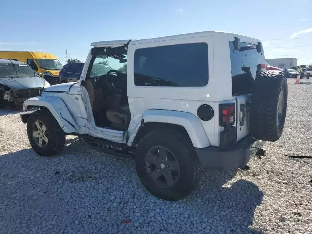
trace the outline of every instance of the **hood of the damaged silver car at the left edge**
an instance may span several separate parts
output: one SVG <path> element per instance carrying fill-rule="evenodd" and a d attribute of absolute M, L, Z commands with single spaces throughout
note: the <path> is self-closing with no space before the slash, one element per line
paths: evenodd
<path fill-rule="evenodd" d="M 43 88 L 45 79 L 41 77 L 0 78 L 0 83 L 12 89 Z"/>

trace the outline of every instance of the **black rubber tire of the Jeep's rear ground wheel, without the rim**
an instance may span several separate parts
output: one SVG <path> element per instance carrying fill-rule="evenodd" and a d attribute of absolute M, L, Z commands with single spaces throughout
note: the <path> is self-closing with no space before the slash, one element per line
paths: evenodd
<path fill-rule="evenodd" d="M 170 188 L 158 186 L 146 170 L 145 156 L 155 146 L 168 148 L 178 161 L 180 175 L 176 184 Z M 137 175 L 144 187 L 152 195 L 164 200 L 176 201 L 190 195 L 201 178 L 201 167 L 192 142 L 174 130 L 160 129 L 142 137 L 137 146 L 135 163 Z"/>

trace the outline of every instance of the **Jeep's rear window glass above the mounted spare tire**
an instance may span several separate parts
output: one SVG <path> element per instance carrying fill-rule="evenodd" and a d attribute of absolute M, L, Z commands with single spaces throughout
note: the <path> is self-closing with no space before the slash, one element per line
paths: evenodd
<path fill-rule="evenodd" d="M 256 45 L 239 42 L 238 48 L 239 50 L 235 50 L 234 41 L 230 41 L 233 96 L 251 93 L 257 65 L 265 64 L 263 52 L 257 52 Z"/>

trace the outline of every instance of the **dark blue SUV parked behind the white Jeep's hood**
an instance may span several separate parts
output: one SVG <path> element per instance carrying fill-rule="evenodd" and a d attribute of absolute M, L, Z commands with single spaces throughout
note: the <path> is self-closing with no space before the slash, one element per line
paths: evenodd
<path fill-rule="evenodd" d="M 78 81 L 80 79 L 83 66 L 83 62 L 73 62 L 66 64 L 59 72 L 59 82 L 68 83 Z"/>

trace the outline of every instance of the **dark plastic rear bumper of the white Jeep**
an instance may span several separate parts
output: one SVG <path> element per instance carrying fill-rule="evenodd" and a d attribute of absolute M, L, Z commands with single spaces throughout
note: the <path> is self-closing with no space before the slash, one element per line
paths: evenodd
<path fill-rule="evenodd" d="M 202 149 L 195 148 L 195 150 L 203 168 L 210 170 L 231 170 L 243 168 L 247 165 L 251 157 L 250 145 L 255 141 L 256 139 L 248 135 L 226 150 L 221 150 L 215 146 Z"/>

